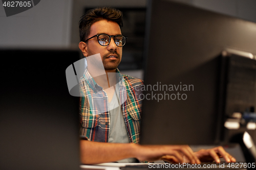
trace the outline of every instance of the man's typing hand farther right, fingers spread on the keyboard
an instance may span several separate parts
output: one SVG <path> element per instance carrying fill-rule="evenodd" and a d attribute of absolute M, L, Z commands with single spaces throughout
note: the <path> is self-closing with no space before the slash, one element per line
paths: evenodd
<path fill-rule="evenodd" d="M 195 155 L 202 162 L 216 161 L 220 163 L 220 158 L 224 158 L 226 162 L 236 162 L 236 159 L 229 155 L 222 147 L 212 148 L 208 150 L 200 150 Z"/>

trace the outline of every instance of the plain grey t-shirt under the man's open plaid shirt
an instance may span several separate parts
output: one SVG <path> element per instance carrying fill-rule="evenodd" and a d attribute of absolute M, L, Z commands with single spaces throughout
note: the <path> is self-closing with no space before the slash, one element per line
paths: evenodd
<path fill-rule="evenodd" d="M 119 84 L 119 83 L 118 83 Z M 116 86 L 116 93 L 114 93 L 111 102 L 109 102 L 110 109 L 110 137 L 109 142 L 112 143 L 129 143 L 129 136 L 125 127 L 124 118 L 119 105 L 119 85 Z M 117 162 L 137 162 L 135 158 L 127 158 Z"/>

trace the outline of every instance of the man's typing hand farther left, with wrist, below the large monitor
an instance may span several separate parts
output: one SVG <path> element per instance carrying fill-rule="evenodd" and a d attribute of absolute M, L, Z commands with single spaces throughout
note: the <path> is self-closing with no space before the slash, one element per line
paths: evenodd
<path fill-rule="evenodd" d="M 200 160 L 188 145 L 139 145 L 137 144 L 137 156 L 139 160 L 155 161 L 165 160 L 169 162 L 183 163 L 186 158 L 190 163 L 200 164 Z M 183 156 L 183 157 L 182 157 Z"/>

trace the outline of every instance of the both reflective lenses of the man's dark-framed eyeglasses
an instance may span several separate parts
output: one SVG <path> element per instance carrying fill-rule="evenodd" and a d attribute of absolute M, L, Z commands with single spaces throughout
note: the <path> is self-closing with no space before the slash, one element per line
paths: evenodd
<path fill-rule="evenodd" d="M 110 43 L 110 37 L 105 34 L 101 34 L 98 36 L 98 41 L 101 45 L 108 45 Z M 114 38 L 114 41 L 117 46 L 123 46 L 125 44 L 125 37 L 122 35 L 118 35 Z"/>

